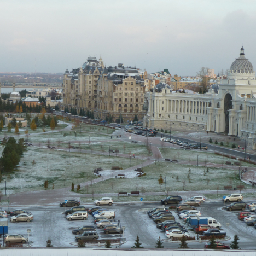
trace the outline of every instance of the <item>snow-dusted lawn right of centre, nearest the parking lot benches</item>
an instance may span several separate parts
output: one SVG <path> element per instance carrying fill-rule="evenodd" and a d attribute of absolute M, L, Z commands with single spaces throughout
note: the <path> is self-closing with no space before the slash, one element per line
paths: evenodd
<path fill-rule="evenodd" d="M 167 162 L 158 162 L 156 165 L 152 164 L 148 167 L 143 167 L 143 171 L 147 173 L 143 177 L 135 177 L 134 172 L 133 178 L 125 179 L 108 179 L 101 181 L 97 185 L 92 185 L 88 188 L 88 193 L 118 193 L 120 191 L 131 192 L 131 191 L 142 191 L 145 192 L 158 192 L 164 191 L 164 185 L 161 190 L 158 183 L 159 175 L 166 177 L 167 191 L 181 191 L 183 190 L 183 182 L 185 182 L 185 191 L 195 190 L 217 190 L 224 189 L 225 185 L 232 184 L 233 187 L 240 185 L 241 182 L 238 179 L 238 171 L 234 170 L 223 170 L 222 168 L 209 168 L 209 172 L 206 172 L 206 168 L 202 166 L 189 166 L 172 164 Z M 189 174 L 191 182 L 188 179 L 189 167 L 191 173 Z M 204 175 L 204 171 L 206 174 Z M 133 172 L 133 171 L 131 171 Z M 121 173 L 121 171 L 120 171 Z M 131 176 L 132 177 L 132 174 Z M 178 177 L 178 178 L 177 178 Z M 250 185 L 244 184 L 245 188 L 251 188 Z M 113 187 L 113 189 L 112 189 Z"/>

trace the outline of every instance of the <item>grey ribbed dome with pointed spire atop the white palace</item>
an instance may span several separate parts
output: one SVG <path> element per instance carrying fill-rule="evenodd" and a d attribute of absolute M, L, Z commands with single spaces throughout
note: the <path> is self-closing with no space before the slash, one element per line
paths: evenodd
<path fill-rule="evenodd" d="M 243 46 L 241 48 L 240 57 L 236 59 L 230 66 L 230 73 L 246 73 L 252 74 L 253 73 L 253 66 L 252 63 L 249 62 L 248 59 L 245 58 L 245 53 Z"/>

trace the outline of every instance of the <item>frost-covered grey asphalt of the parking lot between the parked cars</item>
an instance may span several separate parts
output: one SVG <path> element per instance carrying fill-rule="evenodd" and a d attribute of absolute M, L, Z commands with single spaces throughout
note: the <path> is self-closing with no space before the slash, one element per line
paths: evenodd
<path fill-rule="evenodd" d="M 153 208 L 160 206 L 160 203 L 142 203 L 142 208 Z M 241 249 L 255 249 L 255 235 L 256 229 L 251 226 L 247 226 L 244 222 L 241 222 L 237 218 L 236 212 L 228 212 L 222 210 L 222 202 L 205 202 L 199 210 L 202 216 L 211 216 L 216 218 L 222 223 L 223 230 L 227 232 L 226 223 L 230 223 L 229 235 L 232 237 L 237 234 L 240 237 Z M 92 207 L 92 205 L 86 205 L 86 207 Z M 9 234 L 19 233 L 27 236 L 26 230 L 30 228 L 32 230 L 30 234 L 30 241 L 33 242 L 33 247 L 45 247 L 48 237 L 53 241 L 54 247 L 75 247 L 71 245 L 74 242 L 74 236 L 72 229 L 82 225 L 92 224 L 92 216 L 89 216 L 88 220 L 76 220 L 68 222 L 63 214 L 64 208 L 58 205 L 54 206 L 24 206 L 25 210 L 31 211 L 34 215 L 34 220 L 30 223 L 10 223 L 9 222 Z M 105 208 L 105 207 L 104 207 Z M 164 232 L 156 228 L 156 224 L 152 219 L 148 217 L 148 214 L 143 211 L 138 211 L 140 208 L 139 203 L 118 203 L 113 206 L 106 206 L 106 208 L 115 210 L 116 219 L 120 220 L 122 226 L 126 226 L 124 237 L 127 242 L 122 245 L 123 248 L 131 248 L 135 242 L 135 238 L 138 235 L 142 246 L 144 248 L 154 248 L 155 242 L 160 236 L 165 239 Z M 11 208 L 10 210 L 14 210 Z M 176 216 L 176 212 L 173 214 Z M 182 220 L 180 220 L 182 223 Z M 100 239 L 106 238 L 119 238 L 119 235 L 104 235 L 103 230 L 97 229 Z M 189 231 L 195 235 L 193 231 Z M 232 240 L 232 239 L 231 239 Z M 225 241 L 230 244 L 231 240 Z M 2 241 L 0 240 L 2 243 Z M 203 248 L 205 242 L 193 242 L 189 243 L 189 248 Z M 178 248 L 179 243 L 164 242 L 165 248 Z"/>

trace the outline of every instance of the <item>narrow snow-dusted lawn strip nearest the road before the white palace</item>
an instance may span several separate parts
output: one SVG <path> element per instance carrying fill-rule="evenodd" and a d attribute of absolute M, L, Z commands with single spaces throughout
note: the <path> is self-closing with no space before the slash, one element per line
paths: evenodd
<path fill-rule="evenodd" d="M 164 158 L 169 159 L 178 159 L 178 160 L 186 160 L 186 161 L 198 161 L 199 162 L 212 162 L 216 164 L 225 164 L 226 161 L 238 162 L 238 160 L 225 158 L 221 155 L 216 155 L 212 152 L 208 152 L 207 150 L 185 150 L 185 149 L 172 149 L 172 148 L 159 148 L 161 154 Z M 242 166 L 253 166 L 255 165 L 248 164 L 247 162 L 242 162 Z"/>

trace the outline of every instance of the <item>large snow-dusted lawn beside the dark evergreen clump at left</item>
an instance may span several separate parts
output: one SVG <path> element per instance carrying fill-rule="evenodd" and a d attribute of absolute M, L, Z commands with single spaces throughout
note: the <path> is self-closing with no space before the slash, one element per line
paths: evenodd
<path fill-rule="evenodd" d="M 33 166 L 32 162 L 36 161 Z M 131 159 L 131 166 L 140 164 L 142 160 Z M 76 185 L 93 179 L 93 169 L 101 167 L 110 170 L 112 166 L 129 168 L 130 159 L 118 156 L 104 156 L 83 154 L 77 152 L 65 152 L 28 147 L 20 161 L 19 170 L 3 174 L 2 179 L 7 178 L 9 194 L 21 191 L 42 190 L 44 181 L 48 180 L 49 189 L 63 188 Z M 97 178 L 95 176 L 95 178 Z M 96 186 L 96 185 L 95 185 Z M 0 183 L 0 189 L 5 189 L 5 183 Z"/>

